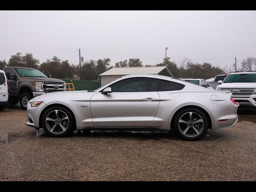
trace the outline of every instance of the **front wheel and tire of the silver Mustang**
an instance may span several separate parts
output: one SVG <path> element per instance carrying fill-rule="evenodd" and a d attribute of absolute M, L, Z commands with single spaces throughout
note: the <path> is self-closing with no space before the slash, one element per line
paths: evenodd
<path fill-rule="evenodd" d="M 56 117 L 56 110 L 58 111 L 58 118 Z M 61 120 L 66 118 L 66 116 L 68 119 Z M 46 118 L 51 120 L 46 122 Z M 63 129 L 63 126 L 65 129 Z M 42 116 L 42 127 L 44 131 L 51 136 L 63 137 L 72 132 L 74 128 L 74 118 L 71 112 L 62 106 L 51 107 L 46 110 Z"/>

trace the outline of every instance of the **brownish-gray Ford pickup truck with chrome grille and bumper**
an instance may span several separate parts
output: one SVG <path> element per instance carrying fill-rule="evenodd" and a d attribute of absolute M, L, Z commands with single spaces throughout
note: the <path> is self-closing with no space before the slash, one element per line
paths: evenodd
<path fill-rule="evenodd" d="M 5 67 L 8 81 L 9 101 L 15 105 L 20 100 L 22 109 L 33 97 L 56 91 L 66 91 L 66 84 L 60 79 L 51 78 L 34 68 Z"/>

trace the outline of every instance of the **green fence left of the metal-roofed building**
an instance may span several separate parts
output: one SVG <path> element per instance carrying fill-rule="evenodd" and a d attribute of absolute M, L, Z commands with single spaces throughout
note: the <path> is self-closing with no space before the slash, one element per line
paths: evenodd
<path fill-rule="evenodd" d="M 75 90 L 95 90 L 101 87 L 100 81 L 79 81 L 79 80 L 64 80 L 66 83 L 73 83 Z"/>

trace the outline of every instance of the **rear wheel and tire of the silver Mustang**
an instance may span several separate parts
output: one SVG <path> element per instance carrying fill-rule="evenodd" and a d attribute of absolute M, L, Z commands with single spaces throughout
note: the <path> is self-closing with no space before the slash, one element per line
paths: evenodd
<path fill-rule="evenodd" d="M 191 114 L 192 118 L 190 118 Z M 194 124 L 194 122 L 198 123 Z M 173 123 L 176 134 L 180 138 L 188 141 L 195 141 L 202 138 L 209 128 L 206 115 L 202 110 L 197 108 L 185 108 L 181 110 L 176 114 Z"/>

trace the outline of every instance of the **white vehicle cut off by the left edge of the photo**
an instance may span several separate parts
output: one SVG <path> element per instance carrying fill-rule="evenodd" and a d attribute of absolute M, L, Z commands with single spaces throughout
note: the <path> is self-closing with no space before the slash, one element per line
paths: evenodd
<path fill-rule="evenodd" d="M 0 111 L 8 104 L 8 84 L 4 71 L 0 70 Z"/>

